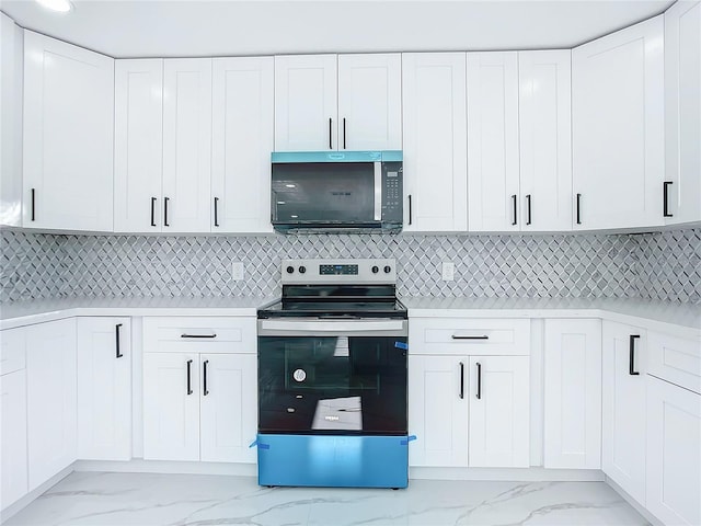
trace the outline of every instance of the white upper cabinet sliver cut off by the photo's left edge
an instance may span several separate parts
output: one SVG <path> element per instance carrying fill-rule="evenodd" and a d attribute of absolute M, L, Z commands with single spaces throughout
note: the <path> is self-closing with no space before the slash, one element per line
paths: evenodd
<path fill-rule="evenodd" d="M 22 30 L 0 13 L 0 225 L 22 225 Z"/>

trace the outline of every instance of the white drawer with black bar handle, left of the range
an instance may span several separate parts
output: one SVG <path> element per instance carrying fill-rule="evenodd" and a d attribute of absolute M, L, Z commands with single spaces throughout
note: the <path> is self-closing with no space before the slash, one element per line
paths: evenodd
<path fill-rule="evenodd" d="M 143 352 L 255 353 L 255 318 L 145 318 Z"/>

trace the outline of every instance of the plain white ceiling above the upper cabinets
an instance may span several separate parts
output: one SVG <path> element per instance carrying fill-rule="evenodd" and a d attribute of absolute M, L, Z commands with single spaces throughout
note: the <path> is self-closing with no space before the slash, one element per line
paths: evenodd
<path fill-rule="evenodd" d="M 1 0 L 23 27 L 113 57 L 574 47 L 674 0 Z"/>

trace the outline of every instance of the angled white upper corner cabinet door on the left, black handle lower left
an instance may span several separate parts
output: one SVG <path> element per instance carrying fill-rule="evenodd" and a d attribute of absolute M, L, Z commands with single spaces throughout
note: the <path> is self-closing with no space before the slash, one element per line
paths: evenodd
<path fill-rule="evenodd" d="M 23 226 L 111 231 L 114 59 L 24 32 Z"/>

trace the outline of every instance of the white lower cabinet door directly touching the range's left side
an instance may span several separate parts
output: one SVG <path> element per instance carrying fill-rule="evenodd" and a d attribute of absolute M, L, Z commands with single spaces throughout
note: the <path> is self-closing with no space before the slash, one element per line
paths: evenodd
<path fill-rule="evenodd" d="M 202 460 L 255 462 L 249 444 L 257 433 L 256 355 L 202 355 L 200 370 Z"/>

